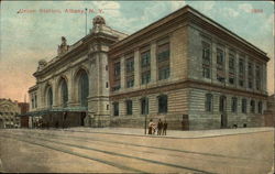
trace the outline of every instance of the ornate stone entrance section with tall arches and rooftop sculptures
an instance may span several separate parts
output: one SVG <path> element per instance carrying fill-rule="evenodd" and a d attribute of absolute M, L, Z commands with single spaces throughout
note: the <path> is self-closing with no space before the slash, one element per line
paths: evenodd
<path fill-rule="evenodd" d="M 107 53 L 111 44 L 127 35 L 106 25 L 101 17 L 96 17 L 92 25 L 90 34 L 73 45 L 63 36 L 58 55 L 38 62 L 33 74 L 36 84 L 29 89 L 30 110 L 37 117 L 43 115 L 46 124 L 62 124 L 65 111 L 66 119 L 72 120 L 67 121 L 69 126 L 84 124 L 86 117 L 95 126 L 95 120 L 109 117 Z"/>

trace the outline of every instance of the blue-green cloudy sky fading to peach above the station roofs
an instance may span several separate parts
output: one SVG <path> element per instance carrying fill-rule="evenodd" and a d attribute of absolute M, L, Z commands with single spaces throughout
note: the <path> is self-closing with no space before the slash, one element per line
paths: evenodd
<path fill-rule="evenodd" d="M 273 94 L 272 1 L 1 1 L 0 98 L 28 100 L 38 61 L 56 56 L 61 36 L 69 45 L 85 36 L 85 8 L 88 30 L 92 19 L 102 15 L 107 25 L 131 34 L 186 4 L 267 53 L 267 91 Z"/>

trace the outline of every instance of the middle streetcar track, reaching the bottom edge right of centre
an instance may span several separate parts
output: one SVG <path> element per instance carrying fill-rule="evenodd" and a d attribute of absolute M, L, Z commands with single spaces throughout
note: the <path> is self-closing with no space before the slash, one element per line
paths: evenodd
<path fill-rule="evenodd" d="M 189 171 L 194 171 L 194 172 L 209 173 L 209 174 L 211 173 L 212 174 L 212 172 L 197 170 L 197 168 L 193 168 L 193 167 L 188 167 L 188 166 L 183 166 L 183 165 L 177 165 L 177 164 L 172 164 L 172 163 L 165 163 L 165 162 L 160 162 L 160 161 L 155 161 L 155 160 L 148 160 L 148 159 L 138 157 L 138 156 L 131 156 L 131 155 L 121 154 L 121 153 L 117 153 L 117 152 L 110 152 L 110 151 L 103 151 L 103 150 L 99 150 L 99 149 L 95 149 L 95 148 L 89 148 L 89 146 L 76 145 L 76 144 L 72 144 L 72 143 L 57 142 L 57 141 L 46 140 L 46 139 L 42 139 L 42 138 L 37 138 L 37 137 L 31 137 L 29 134 L 25 134 L 25 135 L 28 135 L 31 139 L 38 139 L 38 140 L 51 142 L 51 143 L 57 143 L 57 144 L 63 144 L 63 145 L 67 145 L 67 146 L 74 146 L 74 148 L 84 149 L 84 150 L 91 150 L 91 151 L 96 151 L 96 152 L 106 153 L 106 154 L 109 154 L 109 155 L 122 156 L 122 157 L 129 157 L 129 159 L 135 159 L 135 160 L 144 161 L 144 162 L 150 162 L 150 163 L 153 163 L 153 164 L 158 164 L 158 165 L 165 165 L 165 166 L 170 166 L 170 167 L 177 167 L 177 168 L 182 168 L 182 170 L 189 170 Z"/>

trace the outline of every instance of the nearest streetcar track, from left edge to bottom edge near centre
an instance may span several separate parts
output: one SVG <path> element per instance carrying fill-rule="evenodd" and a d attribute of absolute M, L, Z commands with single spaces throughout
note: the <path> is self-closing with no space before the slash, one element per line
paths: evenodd
<path fill-rule="evenodd" d="M 124 170 L 124 171 L 132 171 L 132 172 L 138 172 L 138 173 L 146 173 L 146 172 L 141 171 L 141 170 L 136 170 L 136 168 L 133 168 L 133 167 L 130 167 L 130 166 L 125 166 L 125 165 L 121 165 L 121 164 L 118 164 L 118 163 L 100 160 L 100 159 L 97 159 L 97 157 L 90 157 L 88 155 L 76 153 L 76 152 L 73 152 L 73 151 L 69 151 L 69 150 L 65 150 L 65 149 L 61 149 L 61 148 L 54 148 L 54 146 L 51 146 L 51 145 L 41 144 L 41 143 L 37 143 L 37 142 L 14 138 L 14 135 L 12 137 L 12 135 L 3 135 L 3 134 L 1 134 L 0 137 L 4 137 L 4 138 L 9 138 L 9 139 L 15 139 L 18 141 L 26 142 L 26 143 L 30 143 L 30 144 L 40 145 L 40 146 L 43 146 L 43 148 L 59 151 L 59 152 L 67 153 L 67 154 L 70 154 L 70 155 L 76 155 L 76 156 L 88 159 L 88 160 L 91 160 L 91 161 L 97 161 L 97 162 L 100 162 L 100 163 L 103 163 L 103 164 L 107 164 L 107 165 L 111 165 L 111 166 L 114 166 L 117 168 Z"/>

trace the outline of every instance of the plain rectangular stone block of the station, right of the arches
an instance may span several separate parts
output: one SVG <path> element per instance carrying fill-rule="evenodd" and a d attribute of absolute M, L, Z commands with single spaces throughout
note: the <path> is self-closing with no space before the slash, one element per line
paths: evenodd
<path fill-rule="evenodd" d="M 150 64 L 144 68 L 145 51 Z M 133 65 L 128 64 L 131 57 Z M 111 126 L 141 128 L 160 118 L 169 129 L 264 126 L 268 59 L 186 6 L 110 47 Z M 134 80 L 129 86 L 131 66 Z M 143 81 L 144 69 L 148 83 Z"/>

